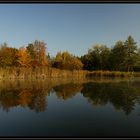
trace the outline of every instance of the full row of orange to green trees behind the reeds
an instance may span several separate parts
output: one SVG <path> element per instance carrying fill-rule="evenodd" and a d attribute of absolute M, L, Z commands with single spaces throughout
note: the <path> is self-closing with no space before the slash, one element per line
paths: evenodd
<path fill-rule="evenodd" d="M 140 48 L 132 36 L 117 41 L 113 47 L 94 45 L 83 56 L 68 51 L 51 58 L 46 43 L 35 40 L 19 49 L 0 45 L 0 67 L 54 67 L 63 70 L 140 71 Z"/>

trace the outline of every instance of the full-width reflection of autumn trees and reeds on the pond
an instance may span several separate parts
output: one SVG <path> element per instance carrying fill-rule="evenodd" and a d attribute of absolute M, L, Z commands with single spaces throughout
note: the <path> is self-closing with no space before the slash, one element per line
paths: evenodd
<path fill-rule="evenodd" d="M 47 110 L 48 96 L 55 92 L 58 100 L 67 100 L 77 93 L 85 97 L 93 107 L 111 103 L 116 110 L 129 115 L 140 104 L 140 81 L 90 80 L 77 82 L 45 81 L 1 81 L 0 108 L 8 112 L 12 107 L 29 108 L 35 112 Z"/>

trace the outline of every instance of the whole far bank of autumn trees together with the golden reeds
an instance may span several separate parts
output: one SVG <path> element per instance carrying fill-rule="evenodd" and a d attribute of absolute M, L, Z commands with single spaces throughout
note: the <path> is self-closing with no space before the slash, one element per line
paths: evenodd
<path fill-rule="evenodd" d="M 0 46 L 0 79 L 140 76 L 140 48 L 132 36 L 114 46 L 94 45 L 83 56 L 68 51 L 50 57 L 46 43 L 35 40 L 19 49 Z"/>

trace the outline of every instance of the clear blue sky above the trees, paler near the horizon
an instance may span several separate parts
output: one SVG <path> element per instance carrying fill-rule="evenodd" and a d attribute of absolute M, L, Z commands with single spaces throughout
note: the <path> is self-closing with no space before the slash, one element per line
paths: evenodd
<path fill-rule="evenodd" d="M 132 35 L 140 44 L 140 4 L 0 4 L 0 44 L 47 43 L 51 56 L 81 56 L 94 44 L 111 47 Z"/>

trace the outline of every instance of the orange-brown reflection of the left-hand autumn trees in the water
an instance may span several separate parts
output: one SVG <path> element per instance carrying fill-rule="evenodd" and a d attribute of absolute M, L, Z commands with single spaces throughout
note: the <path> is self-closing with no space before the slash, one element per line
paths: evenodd
<path fill-rule="evenodd" d="M 0 106 L 8 112 L 12 107 L 28 107 L 35 112 L 45 111 L 47 108 L 46 92 L 40 90 L 1 90 L 0 92 Z"/>

